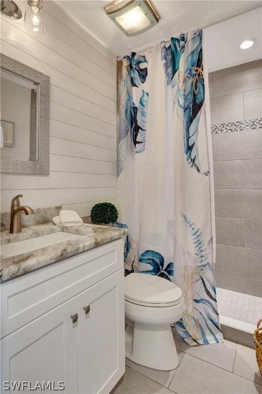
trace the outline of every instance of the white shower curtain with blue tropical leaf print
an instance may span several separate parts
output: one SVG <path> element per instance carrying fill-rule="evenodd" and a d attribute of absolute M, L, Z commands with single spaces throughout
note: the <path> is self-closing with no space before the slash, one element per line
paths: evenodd
<path fill-rule="evenodd" d="M 223 341 L 214 285 L 202 30 L 122 60 L 117 206 L 125 272 L 176 283 L 189 345 Z M 205 77 L 205 78 L 204 78 Z"/>

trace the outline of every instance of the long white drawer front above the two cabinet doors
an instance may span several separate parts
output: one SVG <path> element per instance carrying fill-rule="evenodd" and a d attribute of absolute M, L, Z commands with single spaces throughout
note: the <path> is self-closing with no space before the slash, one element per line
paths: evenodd
<path fill-rule="evenodd" d="M 3 282 L 1 338 L 123 266 L 124 239 L 119 239 Z"/>

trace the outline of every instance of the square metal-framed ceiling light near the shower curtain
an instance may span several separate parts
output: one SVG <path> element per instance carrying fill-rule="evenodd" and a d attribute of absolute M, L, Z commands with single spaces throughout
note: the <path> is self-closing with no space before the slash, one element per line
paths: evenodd
<path fill-rule="evenodd" d="M 115 0 L 104 10 L 128 37 L 144 33 L 157 25 L 160 19 L 149 0 Z"/>

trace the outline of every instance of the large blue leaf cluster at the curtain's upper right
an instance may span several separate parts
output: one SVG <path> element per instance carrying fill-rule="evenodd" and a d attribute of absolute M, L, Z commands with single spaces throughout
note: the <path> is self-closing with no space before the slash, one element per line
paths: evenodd
<path fill-rule="evenodd" d="M 177 114 L 184 125 L 184 150 L 187 162 L 192 168 L 204 175 L 198 155 L 198 127 L 201 109 L 205 101 L 205 84 L 202 59 L 202 30 L 200 29 L 189 40 L 181 34 L 172 37 L 166 47 L 162 42 L 161 58 L 166 73 L 167 85 L 174 91 L 173 110 L 177 106 Z M 180 69 L 182 56 L 185 58 L 185 70 Z"/>

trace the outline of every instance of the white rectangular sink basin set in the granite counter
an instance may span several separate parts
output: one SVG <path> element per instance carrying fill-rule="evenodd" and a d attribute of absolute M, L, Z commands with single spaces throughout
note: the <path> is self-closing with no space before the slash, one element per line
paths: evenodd
<path fill-rule="evenodd" d="M 93 230 L 90 228 L 90 233 L 92 232 Z M 1 255 L 11 257 L 15 256 L 16 254 L 31 252 L 33 250 L 59 244 L 61 242 L 71 241 L 77 238 L 81 239 L 83 237 L 86 237 L 86 235 L 63 231 L 39 235 L 39 237 L 28 238 L 27 240 L 10 242 L 9 244 L 1 245 Z"/>

